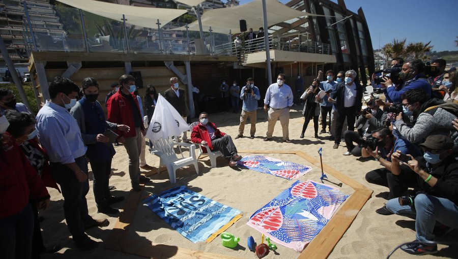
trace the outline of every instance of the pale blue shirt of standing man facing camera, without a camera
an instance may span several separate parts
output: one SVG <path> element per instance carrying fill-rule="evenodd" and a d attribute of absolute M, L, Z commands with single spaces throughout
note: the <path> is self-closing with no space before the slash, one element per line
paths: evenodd
<path fill-rule="evenodd" d="M 285 83 L 281 86 L 278 86 L 278 83 L 271 84 L 269 88 L 267 88 L 264 104 L 274 109 L 293 106 L 293 91 L 291 87 Z"/>

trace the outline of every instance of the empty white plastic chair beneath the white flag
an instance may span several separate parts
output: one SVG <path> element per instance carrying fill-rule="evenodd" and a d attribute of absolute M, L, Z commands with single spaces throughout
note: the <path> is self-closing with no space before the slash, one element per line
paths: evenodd
<path fill-rule="evenodd" d="M 159 156 L 159 166 L 157 168 L 157 173 L 159 174 L 159 169 L 162 165 L 167 167 L 168 177 L 170 178 L 170 183 L 174 184 L 177 182 L 177 177 L 175 172 L 178 168 L 182 168 L 188 165 L 194 165 L 195 172 L 199 175 L 199 168 L 197 166 L 197 158 L 195 156 L 195 145 L 190 143 L 176 143 L 170 139 L 159 139 L 154 140 L 154 149 L 150 152 Z M 174 146 L 186 146 L 189 148 L 189 157 L 178 158 L 175 153 Z"/>

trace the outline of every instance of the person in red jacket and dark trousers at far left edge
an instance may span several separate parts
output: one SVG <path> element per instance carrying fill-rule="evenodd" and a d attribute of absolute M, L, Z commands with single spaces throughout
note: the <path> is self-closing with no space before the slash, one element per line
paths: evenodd
<path fill-rule="evenodd" d="M 9 126 L 7 118 L 0 114 L 0 249 L 2 258 L 31 258 L 34 212 L 29 197 L 35 197 L 37 209 L 46 210 L 50 196 L 37 171 L 7 132 Z"/>

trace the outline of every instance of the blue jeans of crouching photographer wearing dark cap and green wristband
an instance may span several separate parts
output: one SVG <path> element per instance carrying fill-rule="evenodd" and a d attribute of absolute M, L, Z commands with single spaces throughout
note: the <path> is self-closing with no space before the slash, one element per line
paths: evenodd
<path fill-rule="evenodd" d="M 450 228 L 458 228 L 458 206 L 445 198 L 420 193 L 415 197 L 415 208 L 400 206 L 398 199 L 391 199 L 386 208 L 395 214 L 415 217 L 416 238 L 420 242 L 434 240 L 434 225 L 436 221 Z"/>

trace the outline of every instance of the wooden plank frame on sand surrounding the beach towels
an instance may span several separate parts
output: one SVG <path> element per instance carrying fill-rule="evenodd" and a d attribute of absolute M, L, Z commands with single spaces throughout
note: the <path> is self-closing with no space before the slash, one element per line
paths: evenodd
<path fill-rule="evenodd" d="M 297 150 L 240 150 L 239 153 L 281 153 L 298 155 L 314 166 L 321 168 L 320 161 Z M 308 244 L 308 246 L 297 257 L 305 258 L 326 258 L 334 249 L 337 242 L 342 238 L 356 215 L 370 199 L 373 190 L 367 188 L 352 178 L 339 171 L 323 164 L 326 174 L 332 175 L 344 184 L 352 187 L 355 191 L 347 201 L 332 216 L 320 233 Z M 135 216 L 141 192 L 131 192 L 124 202 L 124 210 L 120 213 L 118 220 L 107 238 L 105 248 L 129 254 L 135 254 L 151 258 L 202 258 L 202 259 L 229 259 L 238 258 L 234 256 L 195 251 L 178 246 L 154 244 L 145 240 L 133 240 L 128 237 L 129 226 Z"/>

